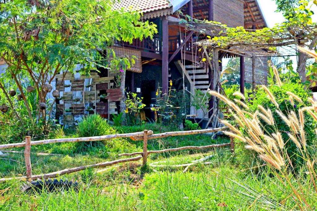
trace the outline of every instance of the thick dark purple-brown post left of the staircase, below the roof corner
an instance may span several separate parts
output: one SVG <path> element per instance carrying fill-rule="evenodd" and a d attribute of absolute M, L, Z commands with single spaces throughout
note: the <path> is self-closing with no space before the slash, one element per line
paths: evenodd
<path fill-rule="evenodd" d="M 162 92 L 168 93 L 168 21 L 162 18 Z"/>

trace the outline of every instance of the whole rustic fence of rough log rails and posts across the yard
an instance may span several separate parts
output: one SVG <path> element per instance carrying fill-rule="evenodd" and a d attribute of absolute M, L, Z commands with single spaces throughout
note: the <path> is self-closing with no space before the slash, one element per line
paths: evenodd
<path fill-rule="evenodd" d="M 140 160 L 141 158 L 143 158 L 143 165 L 146 165 L 147 156 L 148 156 L 148 154 L 151 154 L 151 153 L 174 152 L 174 151 L 179 151 L 179 150 L 184 150 L 184 149 L 201 150 L 201 149 L 217 148 L 217 147 L 224 147 L 224 146 L 230 146 L 231 152 L 233 152 L 233 150 L 234 150 L 233 139 L 230 139 L 230 143 L 225 143 L 225 144 L 214 144 L 214 145 L 208 145 L 208 146 L 184 146 L 184 147 L 179 147 L 179 148 L 155 150 L 155 151 L 148 151 L 147 150 L 147 140 L 149 140 L 149 139 L 159 139 L 159 138 L 165 138 L 165 137 L 169 137 L 169 136 L 179 136 L 179 135 L 212 133 L 212 132 L 222 131 L 222 130 L 226 130 L 226 129 L 228 129 L 228 127 L 219 127 L 219 128 L 214 128 L 214 129 L 205 129 L 205 130 L 165 132 L 165 133 L 158 133 L 158 134 L 153 134 L 153 132 L 151 130 L 144 130 L 143 132 L 137 132 L 137 133 L 112 134 L 112 135 L 94 136 L 94 137 L 85 137 L 85 138 L 49 139 L 49 140 L 39 140 L 39 141 L 31 141 L 31 137 L 26 136 L 24 143 L 0 145 L 0 150 L 6 149 L 6 148 L 13 148 L 13 147 L 24 147 L 26 176 L 24 176 L 24 177 L 12 177 L 12 178 L 0 178 L 0 182 L 7 181 L 7 180 L 10 180 L 13 178 L 27 179 L 27 180 L 54 178 L 54 177 L 58 177 L 58 176 L 61 176 L 64 174 L 69 174 L 69 173 L 73 173 L 76 171 L 82 171 L 82 170 L 85 170 L 87 168 L 101 168 L 101 167 L 111 166 L 111 165 L 118 164 L 118 163 L 137 161 L 137 160 Z M 30 159 L 31 146 L 40 145 L 40 144 L 50 144 L 50 143 L 100 141 L 100 140 L 110 140 L 110 139 L 114 139 L 114 138 L 131 138 L 132 140 L 143 140 L 143 152 L 119 154 L 119 156 L 139 155 L 139 156 L 133 157 L 133 158 L 125 158 L 125 159 L 107 161 L 104 163 L 79 166 L 79 167 L 74 167 L 74 168 L 70 168 L 70 169 L 64 169 L 61 171 L 48 173 L 48 174 L 32 175 L 32 165 L 31 165 L 31 159 Z"/>

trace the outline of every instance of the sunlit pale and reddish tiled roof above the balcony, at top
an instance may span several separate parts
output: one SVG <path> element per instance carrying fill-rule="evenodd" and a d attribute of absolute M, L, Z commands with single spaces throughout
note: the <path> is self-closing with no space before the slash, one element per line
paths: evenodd
<path fill-rule="evenodd" d="M 169 5 L 167 0 L 120 0 L 117 3 L 114 3 L 114 9 L 132 8 L 139 10 L 142 13 L 167 9 L 170 7 L 171 5 Z"/>

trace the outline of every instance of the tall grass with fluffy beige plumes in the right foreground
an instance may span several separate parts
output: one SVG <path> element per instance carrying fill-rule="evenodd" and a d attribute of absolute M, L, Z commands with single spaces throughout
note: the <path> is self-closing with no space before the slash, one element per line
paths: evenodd
<path fill-rule="evenodd" d="M 281 80 L 277 71 L 275 71 L 277 86 L 281 87 Z M 268 87 L 262 86 L 267 93 L 267 97 L 275 105 L 275 110 L 263 108 L 258 105 L 258 110 L 251 113 L 245 98 L 241 93 L 235 95 L 242 99 L 234 99 L 230 101 L 227 97 L 220 95 L 215 91 L 209 90 L 209 93 L 218 97 L 230 107 L 230 113 L 237 124 L 243 128 L 239 130 L 228 121 L 223 124 L 230 127 L 230 132 L 225 134 L 245 143 L 245 148 L 258 153 L 258 156 L 267 164 L 272 174 L 281 182 L 284 189 L 290 190 L 289 196 L 296 202 L 296 206 L 300 210 L 314 210 L 308 202 L 309 198 L 316 199 L 317 194 L 317 173 L 315 169 L 316 154 L 312 154 L 307 149 L 307 139 L 305 126 L 305 115 L 311 115 L 317 121 L 317 102 L 310 98 L 310 106 L 306 106 L 297 111 L 295 102 L 301 102 L 300 97 L 294 93 L 288 92 L 289 100 L 293 107 L 288 108 L 287 115 L 285 111 L 281 111 L 279 104 L 275 100 L 275 96 L 270 92 Z M 272 113 L 279 115 L 279 119 L 274 119 Z M 284 114 L 283 114 L 284 113 Z M 260 121 L 260 119 L 262 121 Z M 288 140 L 283 140 L 281 133 L 277 127 L 277 122 L 283 121 L 289 127 Z M 274 133 L 269 133 L 266 129 L 271 126 Z M 304 160 L 305 165 L 302 172 L 296 172 L 297 166 L 292 165 L 287 152 L 285 143 L 292 141 L 297 146 L 297 153 Z M 295 173 L 294 173 L 295 172 Z M 307 178 L 303 172 L 307 172 Z M 307 183 L 308 182 L 308 183 Z"/>

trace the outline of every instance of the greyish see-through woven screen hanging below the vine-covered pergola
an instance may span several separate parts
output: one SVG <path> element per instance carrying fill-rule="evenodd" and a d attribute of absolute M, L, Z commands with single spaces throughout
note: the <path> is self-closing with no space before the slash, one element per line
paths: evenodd
<path fill-rule="evenodd" d="M 252 59 L 244 57 L 245 82 L 252 83 Z M 256 57 L 256 84 L 268 84 L 268 58 Z"/>

